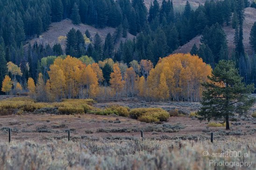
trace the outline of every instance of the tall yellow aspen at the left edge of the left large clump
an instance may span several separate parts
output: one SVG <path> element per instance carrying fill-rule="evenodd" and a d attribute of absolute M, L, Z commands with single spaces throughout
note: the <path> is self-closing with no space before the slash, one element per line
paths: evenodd
<path fill-rule="evenodd" d="M 50 66 L 50 71 L 48 71 L 50 77 L 50 87 L 52 95 L 55 101 L 59 102 L 63 97 L 65 97 L 65 76 L 63 70 L 57 65 L 53 64 Z"/>

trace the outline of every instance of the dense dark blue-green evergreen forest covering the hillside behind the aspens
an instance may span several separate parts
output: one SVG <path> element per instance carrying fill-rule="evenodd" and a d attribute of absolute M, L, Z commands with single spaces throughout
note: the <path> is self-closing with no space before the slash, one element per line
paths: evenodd
<path fill-rule="evenodd" d="M 46 69 L 42 59 L 53 55 L 67 54 L 77 58 L 87 55 L 95 62 L 111 58 L 128 66 L 132 61 L 150 60 L 155 66 L 159 57 L 173 53 L 200 34 L 202 44 L 200 47 L 194 45 L 191 54 L 198 54 L 212 68 L 222 59 L 235 60 L 244 82 L 255 82 L 256 56 L 248 56 L 242 43 L 245 7 L 256 7 L 256 3 L 248 0 L 209 0 L 192 10 L 187 1 L 184 11 L 175 12 L 172 0 L 163 0 L 162 4 L 154 0 L 149 10 L 143 0 L 0 1 L 0 82 L 8 74 L 6 63 L 12 61 L 22 73 L 15 79 L 26 87 L 29 77 L 36 81 L 39 73 L 49 69 L 53 61 L 49 60 Z M 24 48 L 28 40 L 47 31 L 51 22 L 64 19 L 71 19 L 76 25 L 88 24 L 99 29 L 114 27 L 115 32 L 102 40 L 99 34 L 92 37 L 90 30 L 81 33 L 71 29 L 67 34 L 65 50 L 59 44 L 51 48 L 50 45 L 36 43 Z M 228 54 L 227 38 L 222 29 L 228 25 L 235 29 L 232 54 Z M 127 37 L 127 33 L 135 35 L 135 39 L 120 42 L 120 38 Z M 85 44 L 85 38 L 90 39 L 89 44 Z M 251 30 L 250 44 L 256 51 L 256 24 Z M 110 71 L 105 67 L 101 69 L 107 78 L 113 68 Z"/>

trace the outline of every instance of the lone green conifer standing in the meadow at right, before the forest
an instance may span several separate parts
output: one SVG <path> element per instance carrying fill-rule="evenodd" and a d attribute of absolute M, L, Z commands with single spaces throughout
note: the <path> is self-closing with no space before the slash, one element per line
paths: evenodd
<path fill-rule="evenodd" d="M 235 68 L 234 61 L 221 60 L 213 69 L 209 82 L 202 83 L 202 107 L 197 112 L 199 119 L 220 120 L 226 122 L 229 130 L 229 119 L 236 115 L 246 115 L 256 102 L 249 95 L 254 92 L 254 84 L 245 85 Z"/>

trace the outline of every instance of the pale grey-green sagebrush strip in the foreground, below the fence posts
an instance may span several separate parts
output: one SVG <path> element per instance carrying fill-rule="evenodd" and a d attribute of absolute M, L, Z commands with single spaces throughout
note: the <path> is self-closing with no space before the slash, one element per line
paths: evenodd
<path fill-rule="evenodd" d="M 52 140 L 0 143 L 2 170 L 228 170 L 209 166 L 212 153 L 250 153 L 246 162 L 256 169 L 256 142 L 232 138 L 210 143 L 182 140 Z M 203 152 L 207 151 L 208 156 Z M 216 162 L 244 162 L 244 157 L 214 157 Z M 248 169 L 234 166 L 232 170 Z"/>

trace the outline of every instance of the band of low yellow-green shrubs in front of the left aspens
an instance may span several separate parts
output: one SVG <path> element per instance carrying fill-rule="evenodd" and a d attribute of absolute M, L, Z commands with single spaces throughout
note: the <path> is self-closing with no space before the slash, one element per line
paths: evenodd
<path fill-rule="evenodd" d="M 95 108 L 92 99 L 65 99 L 62 102 L 35 102 L 29 97 L 14 97 L 0 101 L 0 116 L 13 114 L 94 114 L 130 117 L 141 122 L 166 122 L 170 114 L 160 108 L 129 109 L 119 105 L 109 105 L 104 109 Z"/>

